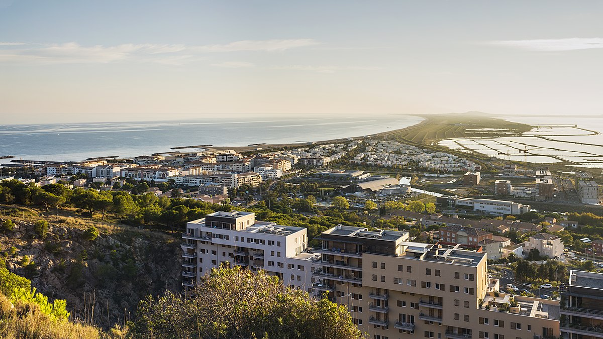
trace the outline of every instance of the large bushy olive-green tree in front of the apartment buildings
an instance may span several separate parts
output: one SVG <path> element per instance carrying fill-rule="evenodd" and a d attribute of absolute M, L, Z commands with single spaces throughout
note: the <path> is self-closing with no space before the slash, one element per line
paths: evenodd
<path fill-rule="evenodd" d="M 216 317 L 219 314 L 219 317 Z M 133 338 L 362 338 L 345 306 L 283 286 L 265 271 L 217 268 L 185 298 L 139 304 Z"/>

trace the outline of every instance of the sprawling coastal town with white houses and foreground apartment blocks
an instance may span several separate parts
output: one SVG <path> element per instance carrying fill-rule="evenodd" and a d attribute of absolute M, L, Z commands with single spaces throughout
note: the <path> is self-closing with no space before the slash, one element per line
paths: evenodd
<path fill-rule="evenodd" d="M 594 208 L 600 186 L 582 171 L 555 175 L 541 166 L 493 163 L 482 173 L 483 164 L 455 154 L 350 139 L 28 164 L 16 168 L 24 176 L 2 177 L 0 185 L 19 180 L 53 187 L 50 195 L 61 185 L 110 200 L 125 192 L 223 206 L 180 219 L 184 291 L 223 264 L 262 270 L 346 305 L 353 323 L 374 338 L 599 333 L 601 320 L 592 314 L 603 310 L 586 306 L 582 294 L 589 288 L 592 300 L 603 297 L 603 288 L 590 285 L 603 281 L 595 273 L 603 268 L 603 232 L 593 227 L 603 218 L 558 211 L 555 203 Z M 89 211 L 83 215 L 93 217 Z M 324 226 L 310 226 L 321 219 Z M 554 274 L 539 276 L 544 267 Z"/>

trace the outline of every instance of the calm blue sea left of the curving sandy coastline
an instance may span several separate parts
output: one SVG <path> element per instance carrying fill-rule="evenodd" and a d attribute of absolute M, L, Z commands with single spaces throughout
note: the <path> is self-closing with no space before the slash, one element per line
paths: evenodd
<path fill-rule="evenodd" d="M 220 118 L 186 121 L 0 125 L 0 155 L 17 159 L 73 161 L 95 156 L 132 157 L 170 147 L 244 146 L 321 141 L 404 128 L 418 116 L 347 118 Z M 188 151 L 184 149 L 180 151 Z M 8 159 L 0 160 L 0 163 Z"/>

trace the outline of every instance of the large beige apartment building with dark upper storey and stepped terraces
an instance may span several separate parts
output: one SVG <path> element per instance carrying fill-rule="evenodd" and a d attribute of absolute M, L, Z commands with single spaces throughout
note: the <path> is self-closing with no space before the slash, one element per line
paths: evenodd
<path fill-rule="evenodd" d="M 353 322 L 370 338 L 560 335 L 559 302 L 499 293 L 498 280 L 487 277 L 485 253 L 408 242 L 406 232 L 359 227 L 333 227 L 319 239 L 315 294 L 347 305 Z M 498 311 L 510 302 L 517 306 Z"/>

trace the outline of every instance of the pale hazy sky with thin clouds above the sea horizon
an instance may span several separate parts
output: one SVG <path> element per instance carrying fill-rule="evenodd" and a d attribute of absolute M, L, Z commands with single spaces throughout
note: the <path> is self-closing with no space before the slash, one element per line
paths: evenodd
<path fill-rule="evenodd" d="M 0 124 L 603 116 L 603 1 L 0 0 Z"/>

